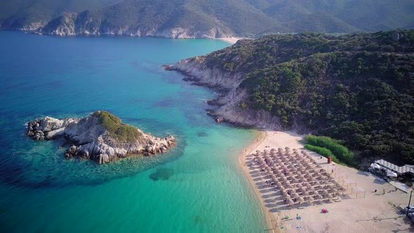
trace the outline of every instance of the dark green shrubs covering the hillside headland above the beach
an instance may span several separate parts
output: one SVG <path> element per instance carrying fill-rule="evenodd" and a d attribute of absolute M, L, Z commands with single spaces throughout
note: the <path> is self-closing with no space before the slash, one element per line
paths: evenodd
<path fill-rule="evenodd" d="M 279 116 L 284 128 L 414 164 L 414 30 L 264 36 L 203 58 L 241 72 L 243 103 Z"/>

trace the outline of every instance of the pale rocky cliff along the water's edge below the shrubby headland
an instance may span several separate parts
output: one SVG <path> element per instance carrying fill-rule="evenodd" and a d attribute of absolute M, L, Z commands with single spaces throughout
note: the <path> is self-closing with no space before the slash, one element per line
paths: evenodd
<path fill-rule="evenodd" d="M 217 67 L 208 67 L 203 57 L 180 60 L 175 65 L 166 66 L 186 76 L 186 81 L 192 81 L 199 86 L 208 86 L 223 94 L 216 100 L 211 100 L 215 109 L 208 109 L 208 114 L 216 121 L 226 121 L 241 126 L 257 128 L 281 129 L 280 120 L 265 110 L 243 107 L 248 94 L 240 87 L 244 77 L 242 73 L 222 72 Z"/>

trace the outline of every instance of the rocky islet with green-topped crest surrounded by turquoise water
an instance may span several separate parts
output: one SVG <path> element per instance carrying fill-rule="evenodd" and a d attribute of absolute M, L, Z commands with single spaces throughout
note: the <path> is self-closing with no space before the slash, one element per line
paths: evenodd
<path fill-rule="evenodd" d="M 98 164 L 116 161 L 133 154 L 145 156 L 166 153 L 176 140 L 169 135 L 156 138 L 139 128 L 123 124 L 109 112 L 97 111 L 84 118 L 44 117 L 27 124 L 27 135 L 34 140 L 65 138 L 72 143 L 65 158 L 91 159 Z"/>

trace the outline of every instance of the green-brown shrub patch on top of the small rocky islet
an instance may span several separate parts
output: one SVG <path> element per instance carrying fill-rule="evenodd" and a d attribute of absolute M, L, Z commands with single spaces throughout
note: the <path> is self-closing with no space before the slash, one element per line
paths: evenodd
<path fill-rule="evenodd" d="M 98 117 L 100 124 L 105 128 L 112 137 L 126 142 L 135 142 L 142 133 L 134 126 L 123 124 L 121 119 L 110 114 L 109 112 L 94 112 L 93 116 Z"/>

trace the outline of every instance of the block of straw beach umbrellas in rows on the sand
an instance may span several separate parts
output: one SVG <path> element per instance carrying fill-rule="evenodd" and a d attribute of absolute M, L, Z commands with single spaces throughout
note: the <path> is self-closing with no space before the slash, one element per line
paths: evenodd
<path fill-rule="evenodd" d="M 331 202 L 334 197 L 340 199 L 345 191 L 305 151 L 291 151 L 289 147 L 265 149 L 253 154 L 253 162 L 260 168 L 267 184 L 274 187 L 289 206 L 314 201 Z"/>

